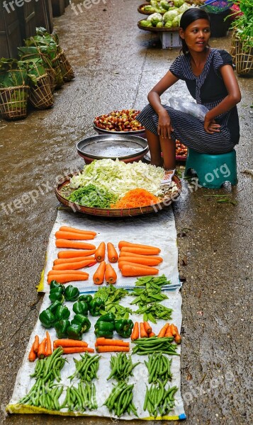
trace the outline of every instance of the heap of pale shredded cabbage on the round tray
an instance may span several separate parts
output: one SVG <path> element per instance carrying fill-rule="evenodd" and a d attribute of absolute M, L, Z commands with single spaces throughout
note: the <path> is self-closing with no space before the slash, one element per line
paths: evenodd
<path fill-rule="evenodd" d="M 71 188 L 79 188 L 88 184 L 94 184 L 98 188 L 110 191 L 121 198 L 128 191 L 135 188 L 146 189 L 159 196 L 161 180 L 164 177 L 164 169 L 144 162 L 125 164 L 123 161 L 113 159 L 99 159 L 84 166 L 77 176 L 70 179 Z"/>

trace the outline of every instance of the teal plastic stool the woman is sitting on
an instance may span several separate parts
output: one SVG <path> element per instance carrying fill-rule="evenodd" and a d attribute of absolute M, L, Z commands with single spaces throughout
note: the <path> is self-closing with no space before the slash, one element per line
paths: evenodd
<path fill-rule="evenodd" d="M 196 171 L 198 184 L 210 189 L 220 188 L 225 181 L 232 185 L 237 184 L 237 166 L 235 149 L 226 154 L 201 154 L 188 148 L 186 171 Z"/>

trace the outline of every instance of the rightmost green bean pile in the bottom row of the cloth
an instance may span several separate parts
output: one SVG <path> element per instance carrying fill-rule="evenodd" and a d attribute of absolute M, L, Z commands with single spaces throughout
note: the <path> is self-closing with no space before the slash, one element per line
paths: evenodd
<path fill-rule="evenodd" d="M 174 407 L 174 394 L 178 390 L 177 387 L 169 387 L 167 390 L 165 384 L 157 380 L 157 385 L 151 385 L 146 390 L 143 410 L 148 410 L 150 416 L 156 418 L 158 415 L 164 416 L 168 414 Z"/>

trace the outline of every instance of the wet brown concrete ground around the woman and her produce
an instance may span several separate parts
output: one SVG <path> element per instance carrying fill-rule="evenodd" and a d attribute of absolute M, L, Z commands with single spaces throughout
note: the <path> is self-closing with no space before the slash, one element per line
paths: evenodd
<path fill-rule="evenodd" d="M 0 122 L 1 205 L 1 423 L 11 398 L 41 295 L 47 238 L 57 215 L 57 176 L 81 169 L 75 144 L 94 134 L 92 120 L 113 108 L 142 108 L 147 92 L 167 72 L 179 50 L 162 50 L 156 34 L 139 30 L 134 0 L 70 6 L 55 18 L 60 44 L 76 78 L 55 93 L 49 111 Z M 140 2 L 139 2 L 140 3 Z M 230 36 L 211 40 L 229 50 Z M 246 425 L 252 415 L 252 80 L 238 78 L 241 140 L 239 183 L 219 191 L 189 188 L 174 203 L 179 271 L 185 282 L 181 391 L 186 424 Z M 183 82 L 170 93 L 188 96 Z M 168 94 L 164 95 L 166 101 Z M 232 203 L 217 203 L 213 194 Z M 28 196 L 23 196 L 28 194 Z M 23 196 L 23 198 L 21 198 Z M 147 217 L 152 222 L 152 217 Z M 110 419 L 12 415 L 6 424 L 109 424 Z M 137 423 L 137 421 L 136 421 Z"/>

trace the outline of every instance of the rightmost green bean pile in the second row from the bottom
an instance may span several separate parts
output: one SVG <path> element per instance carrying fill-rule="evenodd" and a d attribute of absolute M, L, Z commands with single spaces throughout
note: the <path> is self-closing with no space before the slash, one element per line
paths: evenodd
<path fill-rule="evenodd" d="M 153 384 L 161 380 L 167 382 L 172 380 L 171 365 L 172 359 L 169 360 L 163 353 L 152 353 L 148 356 L 148 361 L 144 361 L 149 372 L 149 384 Z"/>

